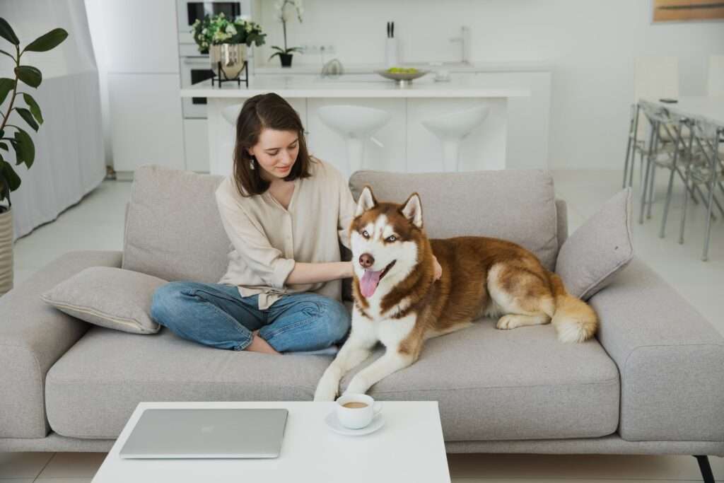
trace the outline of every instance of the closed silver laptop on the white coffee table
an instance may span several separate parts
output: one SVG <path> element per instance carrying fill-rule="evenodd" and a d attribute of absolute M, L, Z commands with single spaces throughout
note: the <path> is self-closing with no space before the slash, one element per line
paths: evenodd
<path fill-rule="evenodd" d="M 146 409 L 121 458 L 277 458 L 287 409 Z"/>

